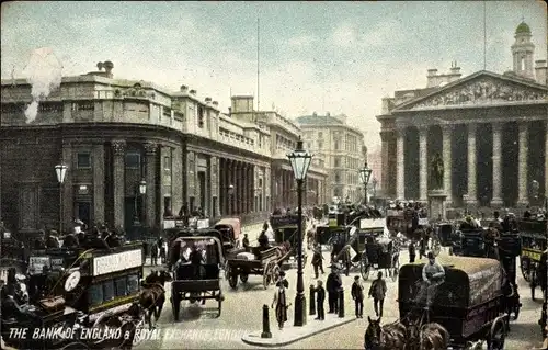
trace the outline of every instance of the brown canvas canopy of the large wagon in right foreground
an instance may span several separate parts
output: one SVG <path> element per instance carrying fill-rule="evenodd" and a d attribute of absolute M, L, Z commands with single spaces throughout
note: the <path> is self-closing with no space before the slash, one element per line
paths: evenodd
<path fill-rule="evenodd" d="M 468 308 L 502 294 L 503 272 L 498 260 L 468 257 L 438 257 L 445 269 L 445 282 L 437 290 L 434 303 L 441 306 Z M 422 281 L 423 262 L 401 267 L 398 300 L 412 302 Z"/>

